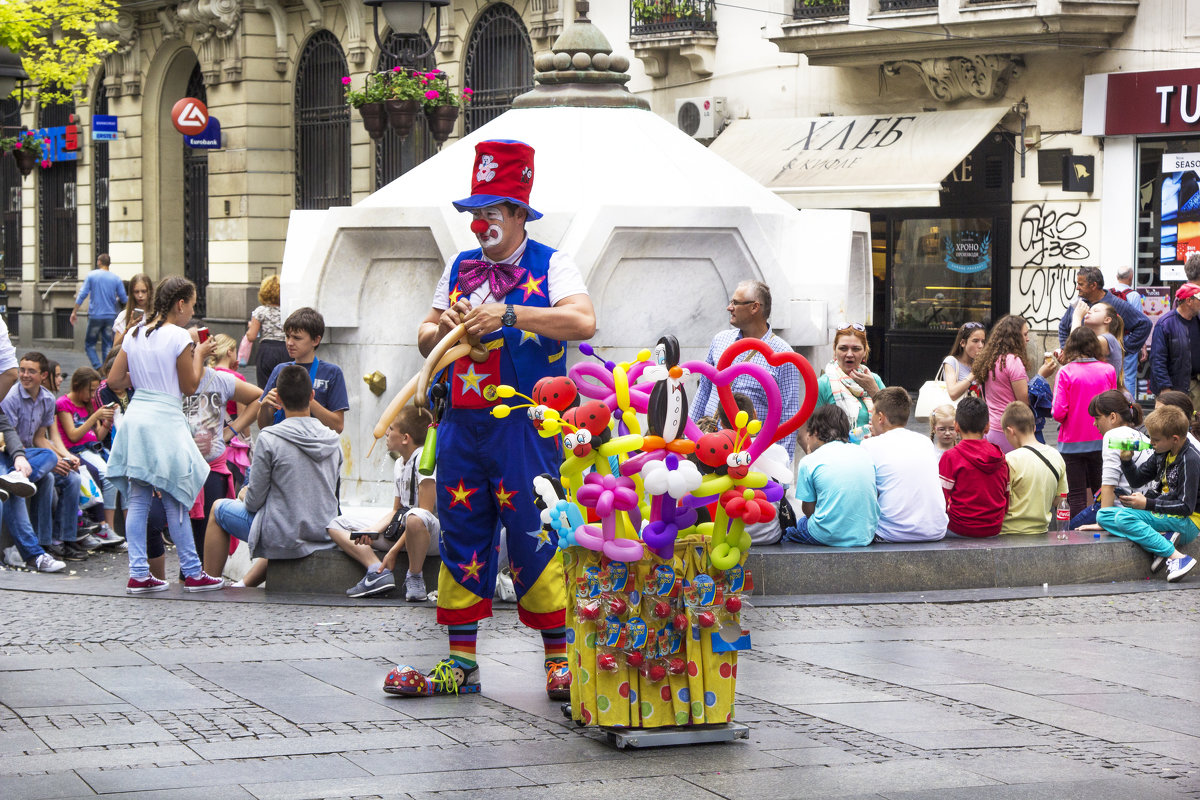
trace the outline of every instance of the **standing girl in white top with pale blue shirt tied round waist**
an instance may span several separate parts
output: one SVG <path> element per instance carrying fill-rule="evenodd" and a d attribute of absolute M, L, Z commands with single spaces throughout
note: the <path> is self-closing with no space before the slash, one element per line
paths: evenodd
<path fill-rule="evenodd" d="M 169 585 L 150 575 L 146 560 L 146 519 L 156 491 L 162 495 L 167 527 L 186 576 L 184 590 L 208 591 L 224 585 L 221 578 L 204 573 L 187 517 L 209 476 L 182 409 L 182 398 L 196 392 L 204 375 L 204 360 L 212 353 L 211 339 L 197 347 L 184 330 L 194 307 L 196 287 L 191 281 L 179 276 L 160 281 L 150 313 L 125 337 L 108 373 L 114 391 L 137 390 L 108 461 L 108 480 L 128 498 L 126 591 L 131 595 L 162 591 Z"/>

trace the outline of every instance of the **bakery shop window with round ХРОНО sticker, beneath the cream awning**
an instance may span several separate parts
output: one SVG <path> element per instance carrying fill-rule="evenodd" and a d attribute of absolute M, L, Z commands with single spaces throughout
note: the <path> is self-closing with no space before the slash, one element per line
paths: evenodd
<path fill-rule="evenodd" d="M 892 261 L 893 330 L 953 331 L 991 313 L 991 217 L 904 219 Z"/>

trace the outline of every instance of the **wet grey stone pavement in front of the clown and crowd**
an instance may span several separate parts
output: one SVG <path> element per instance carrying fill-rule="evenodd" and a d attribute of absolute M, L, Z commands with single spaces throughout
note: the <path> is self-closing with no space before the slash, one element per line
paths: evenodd
<path fill-rule="evenodd" d="M 115 557 L 110 557 L 118 566 Z M 101 576 L 102 570 L 92 572 Z M 0 798 L 1200 798 L 1200 593 L 746 612 L 748 740 L 616 750 L 511 607 L 484 692 L 401 699 L 428 606 L 46 591 L 0 571 Z M 88 583 L 91 582 L 91 583 Z M 104 583 L 101 583 L 104 582 Z M 1172 696 L 1178 697 L 1172 697 Z"/>

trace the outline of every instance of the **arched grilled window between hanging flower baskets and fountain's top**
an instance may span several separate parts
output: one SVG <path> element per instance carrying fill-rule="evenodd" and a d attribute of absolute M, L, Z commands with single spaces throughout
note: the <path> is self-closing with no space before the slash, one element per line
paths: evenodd
<path fill-rule="evenodd" d="M 467 43 L 466 85 L 475 92 L 467 107 L 466 132 L 494 120 L 517 95 L 533 89 L 533 46 L 511 6 L 488 6 Z"/>

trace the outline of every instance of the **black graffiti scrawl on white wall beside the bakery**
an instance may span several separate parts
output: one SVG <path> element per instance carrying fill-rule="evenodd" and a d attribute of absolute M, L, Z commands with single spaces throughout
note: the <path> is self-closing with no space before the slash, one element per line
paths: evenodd
<path fill-rule="evenodd" d="M 1075 271 L 1099 263 L 1099 204 L 1013 204 L 1013 313 L 1055 330 L 1075 297 Z"/>

